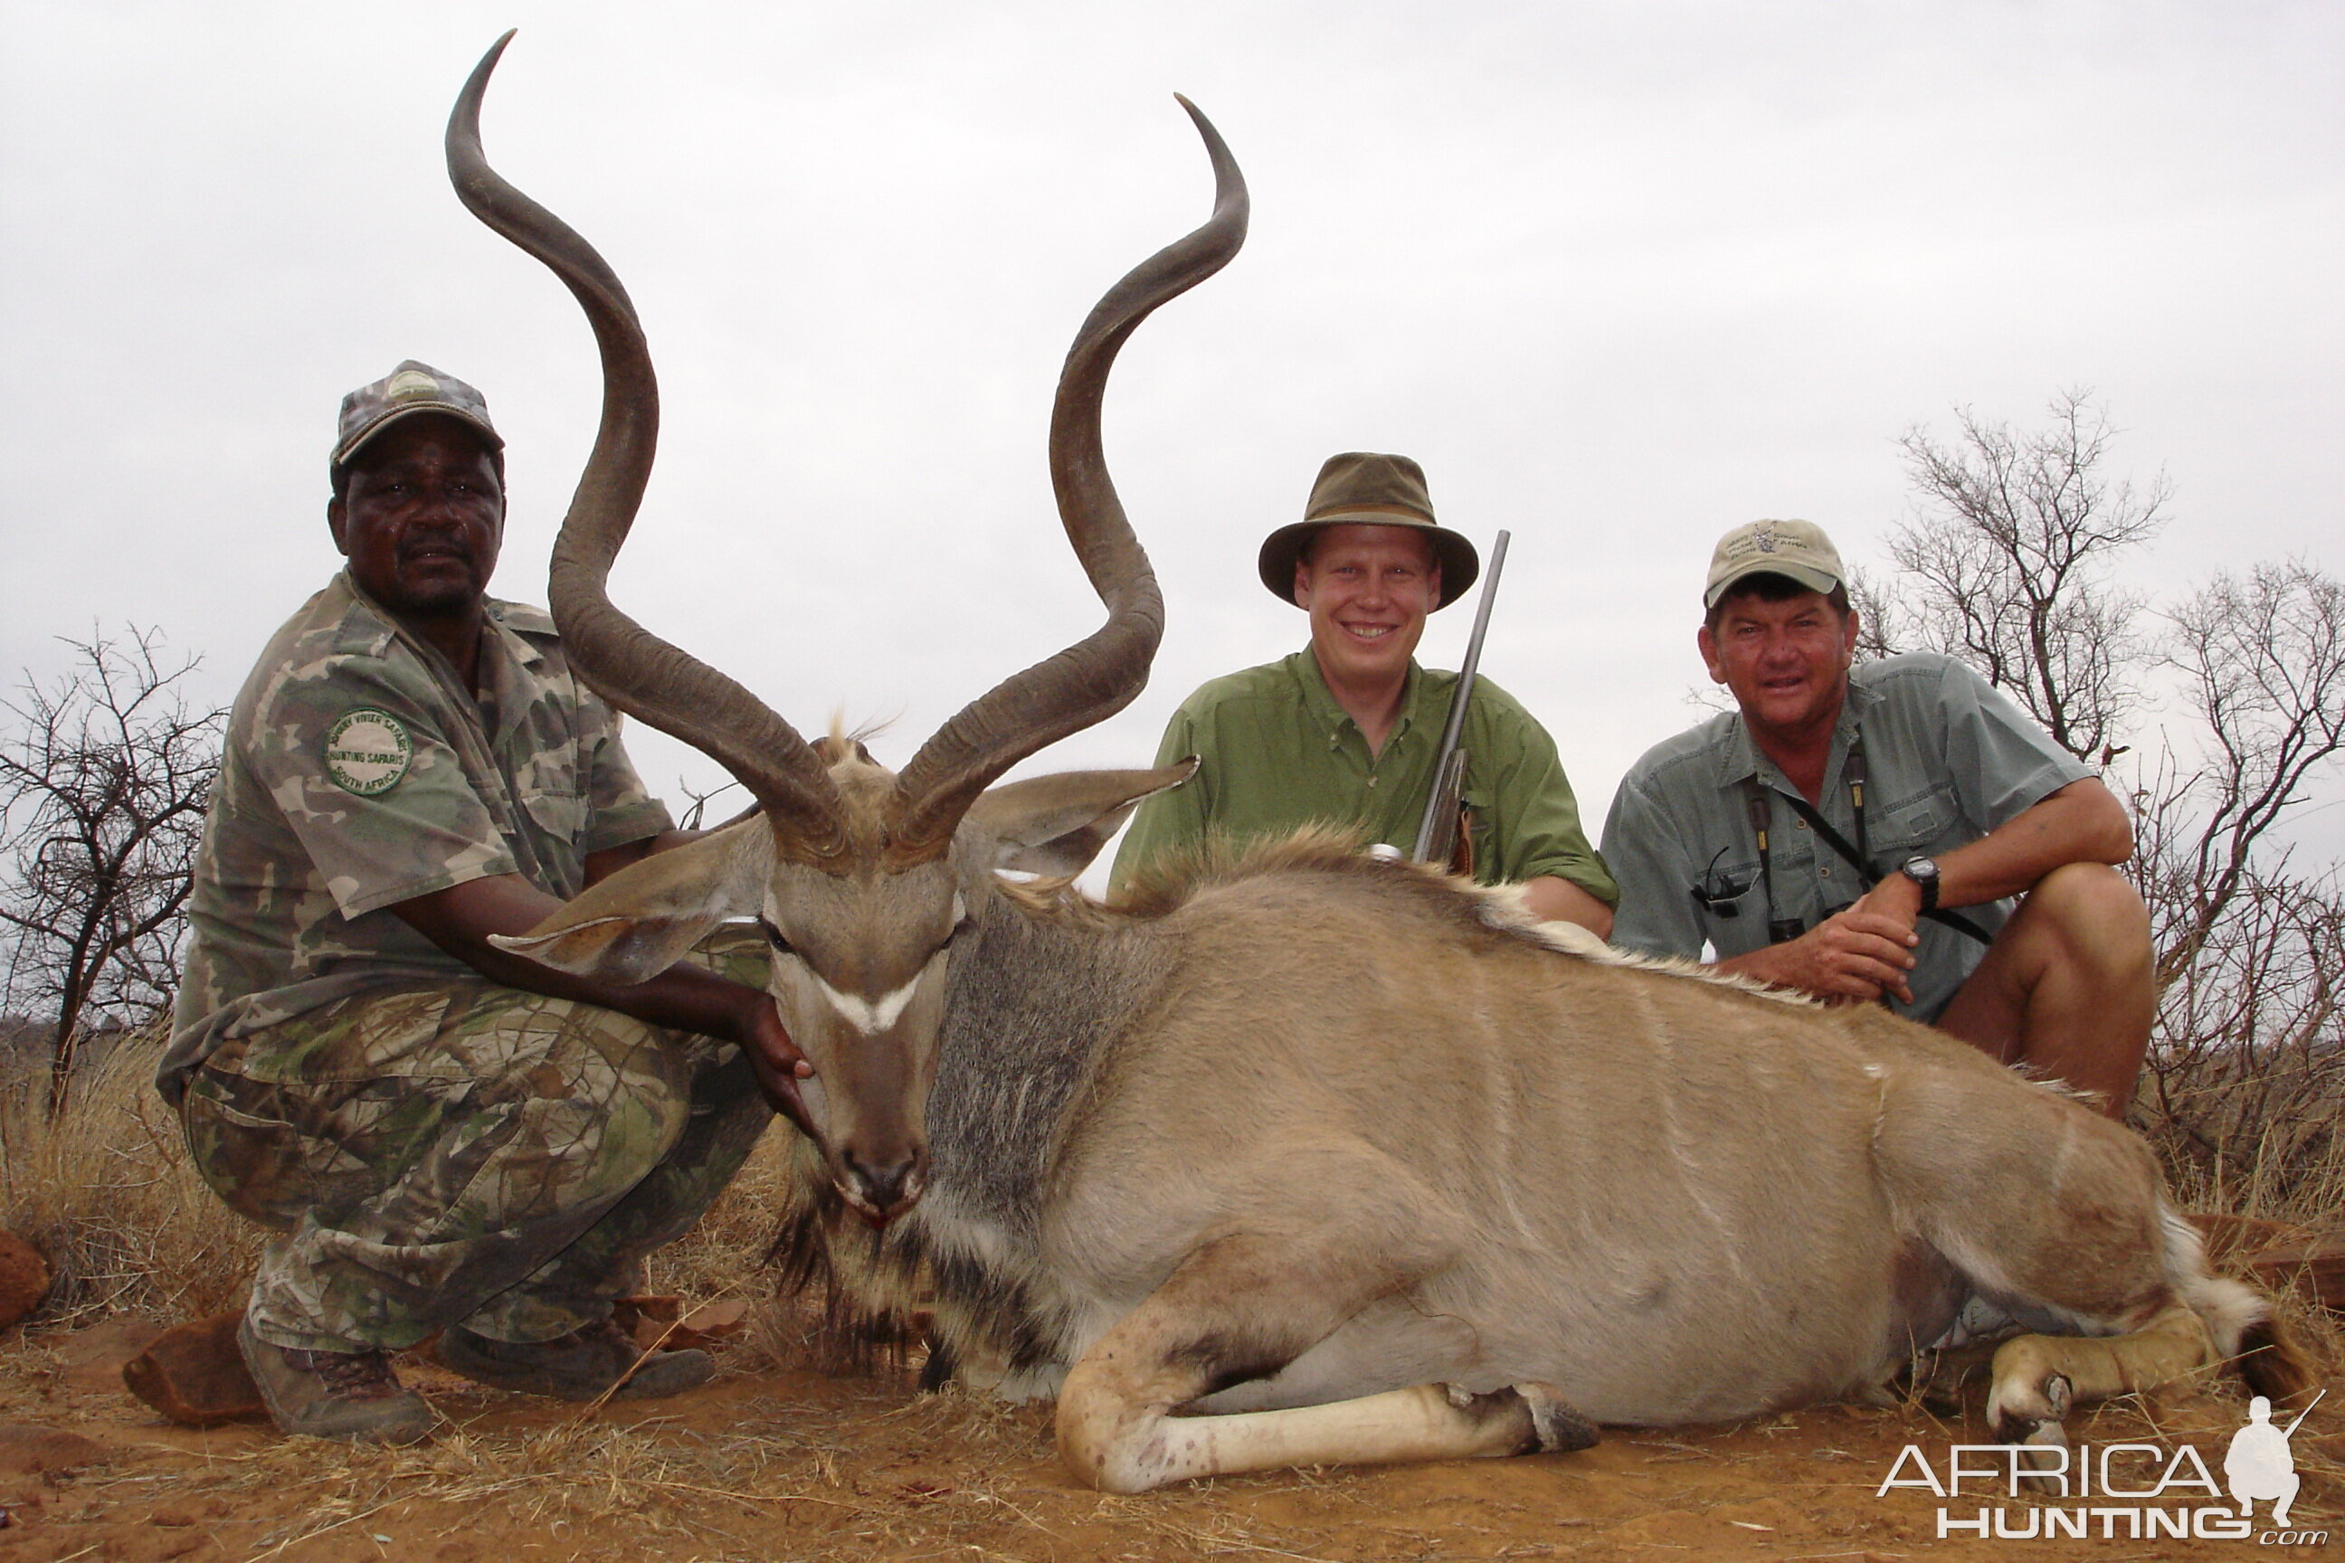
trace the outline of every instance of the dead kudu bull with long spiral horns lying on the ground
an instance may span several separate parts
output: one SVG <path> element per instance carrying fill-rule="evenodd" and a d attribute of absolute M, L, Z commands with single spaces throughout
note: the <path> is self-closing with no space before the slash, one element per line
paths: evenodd
<path fill-rule="evenodd" d="M 804 1106 L 835 1197 L 886 1226 L 884 1261 L 933 1277 L 968 1376 L 1058 1394 L 1086 1481 L 1576 1448 L 1595 1422 L 1869 1397 L 1982 1308 L 2061 1336 L 2000 1347 L 2000 1439 L 2059 1441 L 2073 1399 L 2221 1357 L 2300 1392 L 2265 1303 L 2207 1272 L 2139 1139 L 1878 1010 L 1613 958 L 1501 893 L 1325 841 L 1128 912 L 999 879 L 1076 872 L 1184 778 L 987 790 L 1147 680 L 1163 609 L 1100 398 L 1130 330 L 1243 239 L 1245 187 L 1203 117 L 1212 218 L 1090 314 L 1051 422 L 1060 516 L 1109 619 L 896 776 L 858 745 L 818 752 L 610 605 L 652 366 L 617 277 L 488 169 L 492 66 L 457 103 L 450 173 L 570 284 L 603 349 L 553 614 L 598 691 L 762 806 L 507 944 L 640 980 L 755 916 L 818 1071 Z"/>

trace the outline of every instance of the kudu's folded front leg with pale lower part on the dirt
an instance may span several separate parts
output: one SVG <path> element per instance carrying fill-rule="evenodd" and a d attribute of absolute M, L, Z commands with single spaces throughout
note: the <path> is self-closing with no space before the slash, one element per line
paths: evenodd
<path fill-rule="evenodd" d="M 1058 1453 L 1102 1493 L 1297 1465 L 1391 1465 L 1588 1448 L 1592 1422 L 1552 1385 L 1468 1394 L 1412 1385 L 1297 1406 L 1172 1415 L 1215 1390 L 1266 1378 L 1360 1308 L 1416 1279 L 1374 1244 L 1316 1235 L 1219 1237 L 1083 1352 L 1058 1397 Z"/>

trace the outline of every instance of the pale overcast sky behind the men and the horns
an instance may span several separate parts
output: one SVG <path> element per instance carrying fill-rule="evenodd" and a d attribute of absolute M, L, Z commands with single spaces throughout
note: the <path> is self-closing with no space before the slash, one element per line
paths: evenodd
<path fill-rule="evenodd" d="M 490 159 L 626 279 L 661 459 L 614 593 L 802 729 L 922 736 L 1100 616 L 1044 466 L 1097 293 L 1203 220 L 1172 103 L 1255 197 L 1151 319 L 1109 464 L 1170 628 L 1029 769 L 1140 764 L 1201 680 L 1301 644 L 1255 581 L 1320 459 L 1423 462 L 1515 532 L 1484 673 L 1590 818 L 1700 712 L 1712 541 L 1806 516 L 1878 562 L 1897 436 L 2092 387 L 2164 469 L 2134 565 L 2336 572 L 2345 7 L 2127 2 L 30 5 L 0 0 L 0 682 L 162 626 L 225 701 L 335 555 L 335 403 L 420 356 L 509 438 L 497 593 L 593 436 L 591 337 L 448 190 Z M 1470 609 L 1435 619 L 1454 666 Z M 711 766 L 640 733 L 673 797 Z M 2336 813 L 2336 811 L 2331 811 Z"/>

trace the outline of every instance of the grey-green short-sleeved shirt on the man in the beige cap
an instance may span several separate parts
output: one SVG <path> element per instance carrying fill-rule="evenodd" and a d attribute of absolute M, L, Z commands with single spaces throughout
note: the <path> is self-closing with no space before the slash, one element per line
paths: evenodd
<path fill-rule="evenodd" d="M 1831 733 L 1824 794 L 1815 804 L 1848 841 L 1857 841 L 1857 818 L 1846 764 L 1860 731 L 1864 846 L 1876 874 L 1916 853 L 1937 858 L 1977 841 L 2094 773 L 1951 656 L 1860 663 L 1848 673 L 1848 701 Z M 1773 907 L 1747 804 L 1752 776 L 1768 790 Z M 1770 919 L 1801 919 L 1803 928 L 1815 928 L 1855 902 L 1864 881 L 1792 813 L 1789 797 L 1799 792 L 1756 750 L 1740 712 L 1724 712 L 1646 750 L 1620 780 L 1604 820 L 1604 862 L 1620 881 L 1613 944 L 1691 961 L 1700 958 L 1707 940 L 1717 958 L 1728 961 L 1763 949 Z M 1738 886 L 1740 895 L 1719 897 Z M 1733 914 L 1702 905 L 1698 888 L 1724 900 Z M 2012 900 L 1998 900 L 1965 907 L 1963 916 L 1991 935 L 2012 907 Z M 1914 1019 L 1937 1019 L 1986 947 L 1935 921 L 1923 921 L 1918 930 L 1909 980 L 1914 1003 L 1895 1008 Z"/>

